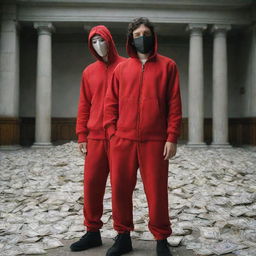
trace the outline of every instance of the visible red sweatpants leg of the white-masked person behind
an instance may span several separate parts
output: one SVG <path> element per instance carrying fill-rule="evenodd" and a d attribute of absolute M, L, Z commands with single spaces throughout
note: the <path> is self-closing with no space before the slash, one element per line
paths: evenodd
<path fill-rule="evenodd" d="M 99 230 L 103 223 L 103 197 L 109 174 L 108 140 L 88 139 L 84 164 L 84 225 Z"/>

